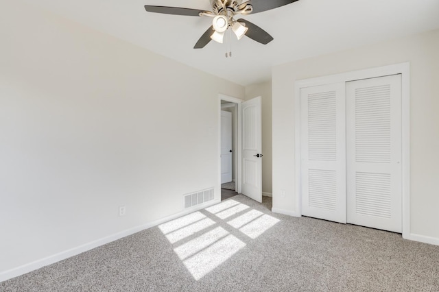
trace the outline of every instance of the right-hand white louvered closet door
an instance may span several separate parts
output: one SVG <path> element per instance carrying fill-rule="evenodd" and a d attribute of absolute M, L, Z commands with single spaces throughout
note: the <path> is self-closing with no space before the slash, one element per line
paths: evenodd
<path fill-rule="evenodd" d="M 348 223 L 402 231 L 401 75 L 346 83 Z"/>

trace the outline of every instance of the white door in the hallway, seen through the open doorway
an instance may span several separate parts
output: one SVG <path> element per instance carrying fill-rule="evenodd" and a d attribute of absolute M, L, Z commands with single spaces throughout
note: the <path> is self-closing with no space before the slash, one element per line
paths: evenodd
<path fill-rule="evenodd" d="M 221 183 L 232 181 L 232 113 L 221 111 Z"/>

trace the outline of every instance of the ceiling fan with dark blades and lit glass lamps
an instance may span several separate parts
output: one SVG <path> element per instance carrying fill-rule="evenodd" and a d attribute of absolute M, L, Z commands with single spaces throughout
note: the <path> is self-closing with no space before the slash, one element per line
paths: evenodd
<path fill-rule="evenodd" d="M 235 16 L 254 14 L 271 10 L 274 8 L 296 2 L 298 0 L 211 0 L 212 11 L 199 9 L 167 7 L 145 5 L 147 12 L 163 14 L 185 15 L 185 16 L 209 16 L 213 18 L 212 25 L 204 32 L 193 49 L 202 49 L 211 40 L 223 42 L 224 33 L 227 29 L 232 29 L 240 40 L 243 36 L 248 36 L 263 45 L 273 40 L 273 37 L 261 29 L 261 27 L 246 21 L 245 19 L 235 20 Z"/>

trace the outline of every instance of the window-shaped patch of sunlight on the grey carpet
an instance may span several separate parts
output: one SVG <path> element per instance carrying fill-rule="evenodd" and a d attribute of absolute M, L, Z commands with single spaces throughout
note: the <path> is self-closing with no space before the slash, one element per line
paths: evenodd
<path fill-rule="evenodd" d="M 200 280 L 279 221 L 228 199 L 158 228 L 193 278 Z"/>

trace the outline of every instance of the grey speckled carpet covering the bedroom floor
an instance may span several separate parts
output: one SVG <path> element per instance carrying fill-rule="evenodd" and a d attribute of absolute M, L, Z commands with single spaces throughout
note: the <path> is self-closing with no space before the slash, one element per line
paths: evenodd
<path fill-rule="evenodd" d="M 0 283 L 0 291 L 439 291 L 439 247 L 237 195 Z"/>

